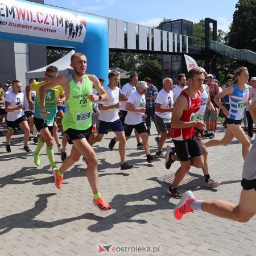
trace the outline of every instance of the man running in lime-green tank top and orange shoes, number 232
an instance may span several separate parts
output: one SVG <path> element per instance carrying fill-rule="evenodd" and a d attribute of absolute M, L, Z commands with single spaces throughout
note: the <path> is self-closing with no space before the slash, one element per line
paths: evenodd
<path fill-rule="evenodd" d="M 74 53 L 71 56 L 72 76 L 59 76 L 43 85 L 40 91 L 40 113 L 46 118 L 49 112 L 45 108 L 46 90 L 61 84 L 67 95 L 65 101 L 66 112 L 62 121 L 63 129 L 69 142 L 72 143 L 71 154 L 67 156 L 60 168 L 53 170 L 55 185 L 61 189 L 63 174 L 73 164 L 79 161 L 80 156 L 84 156 L 87 162 L 86 176 L 93 192 L 93 205 L 100 210 L 112 209 L 100 194 L 98 189 L 98 159 L 92 146 L 88 143 L 92 133 L 92 102 L 108 101 L 108 94 L 101 86 L 100 81 L 94 75 L 85 75 L 86 57 L 83 53 Z M 93 86 L 100 95 L 92 94 Z"/>

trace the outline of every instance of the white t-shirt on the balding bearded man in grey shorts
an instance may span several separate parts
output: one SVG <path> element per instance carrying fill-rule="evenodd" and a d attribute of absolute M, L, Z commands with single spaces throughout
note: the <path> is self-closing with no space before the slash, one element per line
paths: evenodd
<path fill-rule="evenodd" d="M 170 93 L 167 93 L 166 90 L 162 89 L 158 93 L 158 96 L 156 96 L 155 103 L 160 104 L 162 108 L 170 109 L 174 105 L 174 94 L 172 93 L 172 91 L 170 91 Z M 172 117 L 171 112 L 164 112 L 164 113 L 155 112 L 155 114 L 161 118 L 170 119 L 170 122 L 171 122 L 171 117 Z"/>

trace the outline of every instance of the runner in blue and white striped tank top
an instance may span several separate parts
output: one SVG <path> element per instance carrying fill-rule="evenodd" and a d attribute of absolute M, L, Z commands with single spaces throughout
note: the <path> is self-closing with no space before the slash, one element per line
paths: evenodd
<path fill-rule="evenodd" d="M 235 75 L 233 77 L 234 84 L 229 88 L 225 89 L 223 92 L 217 94 L 214 98 L 216 104 L 223 110 L 223 113 L 226 115 L 226 133 L 222 139 L 212 139 L 205 143 L 206 147 L 213 146 L 226 146 L 229 142 L 232 141 L 234 137 L 242 143 L 242 156 L 243 159 L 246 158 L 246 155 L 249 152 L 250 141 L 246 137 L 245 132 L 241 127 L 241 122 L 243 119 L 243 114 L 245 113 L 245 108 L 247 103 L 251 104 L 251 92 L 252 88 L 250 85 L 247 85 L 249 73 L 246 67 L 240 67 L 236 69 Z M 226 110 L 220 102 L 220 99 L 225 95 L 229 95 L 230 98 L 230 109 Z"/>

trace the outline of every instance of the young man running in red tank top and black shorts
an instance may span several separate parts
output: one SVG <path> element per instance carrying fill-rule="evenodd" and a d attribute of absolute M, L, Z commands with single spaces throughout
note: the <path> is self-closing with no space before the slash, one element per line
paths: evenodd
<path fill-rule="evenodd" d="M 204 71 L 201 68 L 192 68 L 188 72 L 188 88 L 180 93 L 175 103 L 171 119 L 172 141 L 175 145 L 173 154 L 177 154 L 180 168 L 176 171 L 174 181 L 168 188 L 168 193 L 180 199 L 182 193 L 177 188 L 191 166 L 204 166 L 203 151 L 195 136 L 195 127 L 204 129 L 205 125 L 196 119 L 201 106 L 200 91 L 204 82 Z M 170 154 L 169 154 L 170 157 Z"/>

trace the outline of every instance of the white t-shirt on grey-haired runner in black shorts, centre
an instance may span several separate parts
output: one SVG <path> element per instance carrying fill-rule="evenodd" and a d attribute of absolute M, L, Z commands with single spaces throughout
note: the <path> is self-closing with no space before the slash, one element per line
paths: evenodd
<path fill-rule="evenodd" d="M 127 102 L 133 104 L 133 108 L 145 108 L 146 100 L 145 96 L 139 94 L 137 91 L 132 93 Z M 128 111 L 125 117 L 125 123 L 127 125 L 138 125 L 142 122 L 142 112 Z"/>

